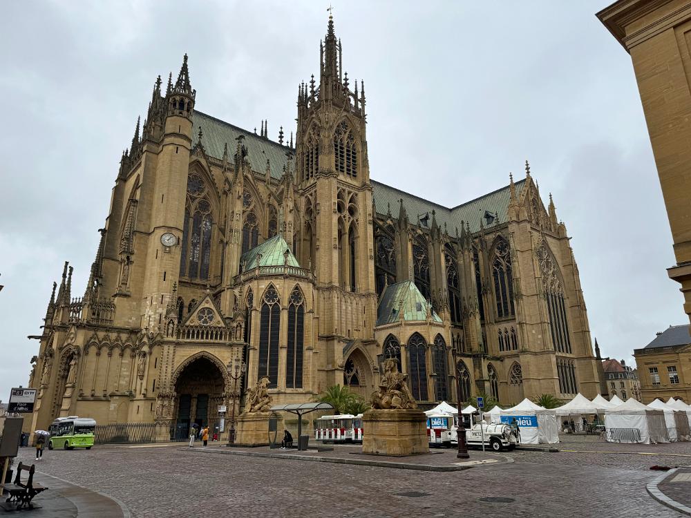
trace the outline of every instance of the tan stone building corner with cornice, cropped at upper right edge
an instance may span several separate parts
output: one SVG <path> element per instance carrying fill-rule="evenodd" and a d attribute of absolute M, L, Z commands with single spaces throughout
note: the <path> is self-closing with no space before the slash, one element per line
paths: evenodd
<path fill-rule="evenodd" d="M 691 318 L 691 1 L 619 0 L 598 18 L 631 55 Z"/>

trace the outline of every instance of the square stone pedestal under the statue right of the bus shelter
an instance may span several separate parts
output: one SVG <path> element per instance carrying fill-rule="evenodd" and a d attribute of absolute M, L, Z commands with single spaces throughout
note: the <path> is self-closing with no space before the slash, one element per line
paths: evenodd
<path fill-rule="evenodd" d="M 429 453 L 422 410 L 368 410 L 362 416 L 362 452 L 379 455 Z"/>

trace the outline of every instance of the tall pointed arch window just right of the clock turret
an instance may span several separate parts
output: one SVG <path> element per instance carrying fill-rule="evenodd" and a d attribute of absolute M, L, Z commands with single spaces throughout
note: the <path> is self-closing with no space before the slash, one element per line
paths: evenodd
<path fill-rule="evenodd" d="M 214 225 L 209 195 L 209 189 L 202 177 L 197 173 L 190 173 L 187 177 L 187 200 L 182 222 L 182 277 L 209 278 L 211 231 Z"/>

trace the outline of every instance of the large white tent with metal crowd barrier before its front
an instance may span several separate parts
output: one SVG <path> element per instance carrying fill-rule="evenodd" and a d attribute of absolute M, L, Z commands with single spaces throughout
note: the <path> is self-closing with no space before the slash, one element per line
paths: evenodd
<path fill-rule="evenodd" d="M 607 441 L 644 444 L 670 442 L 665 413 L 633 398 L 605 415 L 605 428 Z"/>

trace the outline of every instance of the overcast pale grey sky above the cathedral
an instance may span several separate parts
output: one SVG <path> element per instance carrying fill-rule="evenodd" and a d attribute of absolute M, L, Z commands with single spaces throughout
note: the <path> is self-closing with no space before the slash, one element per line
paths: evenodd
<path fill-rule="evenodd" d="M 454 206 L 528 159 L 567 224 L 603 355 L 633 361 L 687 321 L 629 55 L 608 0 L 334 0 L 343 64 L 364 79 L 372 178 Z M 26 385 L 53 280 L 83 292 L 122 150 L 157 75 L 189 54 L 196 107 L 294 127 L 318 73 L 326 1 L 23 1 L 0 18 L 0 399 Z M 290 131 L 290 130 L 289 130 Z M 424 181 L 421 179 L 424 178 Z"/>

